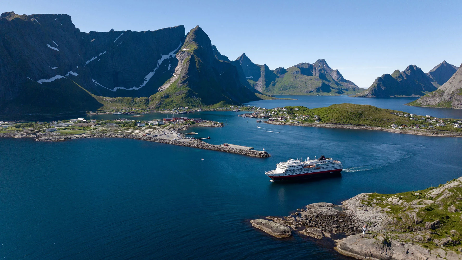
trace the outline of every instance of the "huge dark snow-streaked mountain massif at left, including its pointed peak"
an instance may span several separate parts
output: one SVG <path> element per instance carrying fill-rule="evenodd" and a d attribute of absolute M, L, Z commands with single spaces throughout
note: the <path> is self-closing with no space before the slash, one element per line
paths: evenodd
<path fill-rule="evenodd" d="M 0 16 L 0 36 L 3 114 L 97 110 L 102 104 L 95 96 L 150 97 L 176 80 L 177 87 L 191 89 L 178 105 L 259 99 L 241 84 L 229 59 L 215 58 L 210 39 L 199 27 L 188 36 L 183 25 L 86 33 L 66 14 L 5 12 Z M 188 62 L 182 70 L 190 58 L 196 66 Z M 162 101 L 149 100 L 149 105 L 166 105 L 169 98 L 163 96 Z"/>

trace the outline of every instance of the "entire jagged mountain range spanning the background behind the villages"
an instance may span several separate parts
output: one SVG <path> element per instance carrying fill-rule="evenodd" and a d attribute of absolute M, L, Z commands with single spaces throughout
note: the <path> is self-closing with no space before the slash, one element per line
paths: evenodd
<path fill-rule="evenodd" d="M 0 15 L 0 114 L 238 105 L 262 94 L 341 95 L 363 89 L 327 62 L 271 70 L 245 53 L 231 61 L 196 26 L 81 32 L 66 14 Z M 384 74 L 358 97 L 421 96 L 456 67 Z"/>

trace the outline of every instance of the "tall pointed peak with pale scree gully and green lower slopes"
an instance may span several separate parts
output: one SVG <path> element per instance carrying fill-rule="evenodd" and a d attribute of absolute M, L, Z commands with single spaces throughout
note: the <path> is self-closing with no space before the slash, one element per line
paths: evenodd
<path fill-rule="evenodd" d="M 176 53 L 177 66 L 174 77 L 150 97 L 152 107 L 161 104 L 196 105 L 240 104 L 258 99 L 239 80 L 236 67 L 225 59 L 201 27 L 189 31 Z"/>

